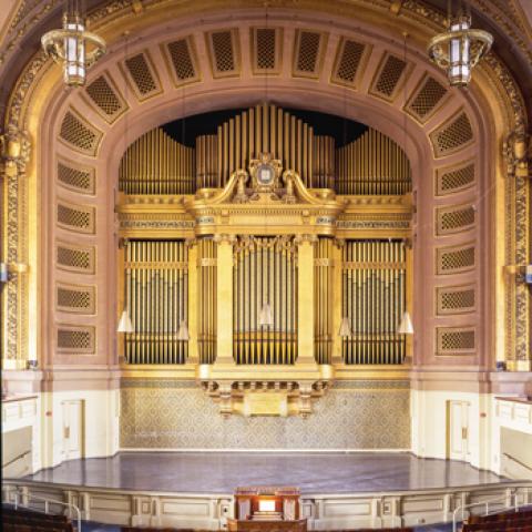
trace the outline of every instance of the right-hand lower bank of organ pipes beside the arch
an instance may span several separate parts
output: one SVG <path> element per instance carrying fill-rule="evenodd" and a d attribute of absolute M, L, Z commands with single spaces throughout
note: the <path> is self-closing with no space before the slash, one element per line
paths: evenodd
<path fill-rule="evenodd" d="M 406 309 L 406 250 L 400 241 L 347 241 L 342 249 L 345 364 L 401 364 L 406 339 L 397 328 Z"/>

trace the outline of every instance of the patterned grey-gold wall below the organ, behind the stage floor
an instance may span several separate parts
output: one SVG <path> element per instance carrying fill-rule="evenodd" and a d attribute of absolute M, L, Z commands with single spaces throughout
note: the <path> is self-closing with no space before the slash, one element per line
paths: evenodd
<path fill-rule="evenodd" d="M 306 419 L 224 419 L 194 382 L 122 386 L 125 449 L 410 449 L 408 381 L 338 382 Z"/>

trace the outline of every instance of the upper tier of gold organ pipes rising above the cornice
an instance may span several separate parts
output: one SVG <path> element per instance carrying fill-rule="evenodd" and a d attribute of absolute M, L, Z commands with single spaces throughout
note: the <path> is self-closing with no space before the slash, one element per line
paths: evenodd
<path fill-rule="evenodd" d="M 294 170 L 308 188 L 349 195 L 401 195 L 411 191 L 410 163 L 388 136 L 369 127 L 335 149 L 335 139 L 276 105 L 259 104 L 200 135 L 195 149 L 149 131 L 125 152 L 120 191 L 126 194 L 193 194 L 224 187 L 233 172 L 270 153 Z"/>

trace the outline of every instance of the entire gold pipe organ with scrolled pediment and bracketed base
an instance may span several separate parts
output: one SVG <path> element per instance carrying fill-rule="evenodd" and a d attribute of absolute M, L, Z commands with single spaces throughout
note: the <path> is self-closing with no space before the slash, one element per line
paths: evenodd
<path fill-rule="evenodd" d="M 337 149 L 259 104 L 195 147 L 142 135 L 119 184 L 132 371 L 194 371 L 223 413 L 307 415 L 335 371 L 410 355 L 410 165 L 380 132 Z"/>

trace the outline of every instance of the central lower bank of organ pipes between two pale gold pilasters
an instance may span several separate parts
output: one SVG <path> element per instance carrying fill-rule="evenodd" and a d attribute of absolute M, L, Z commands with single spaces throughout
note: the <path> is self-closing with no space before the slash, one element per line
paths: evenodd
<path fill-rule="evenodd" d="M 244 236 L 234 247 L 233 356 L 236 364 L 297 358 L 297 247 L 287 236 Z M 273 321 L 260 324 L 269 306 Z"/>

